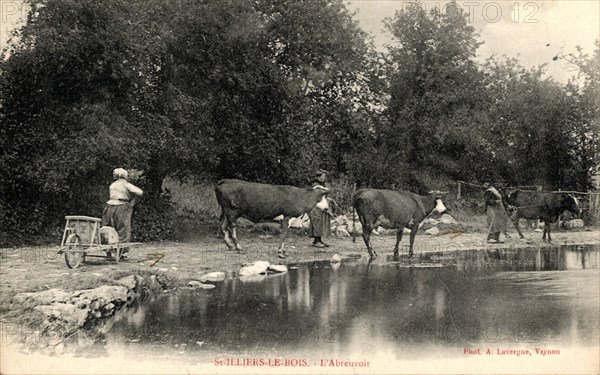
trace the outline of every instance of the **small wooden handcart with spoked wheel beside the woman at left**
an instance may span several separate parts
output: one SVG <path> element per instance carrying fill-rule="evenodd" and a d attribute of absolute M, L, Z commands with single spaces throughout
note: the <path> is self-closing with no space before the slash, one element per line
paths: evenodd
<path fill-rule="evenodd" d="M 90 216 L 65 216 L 67 221 L 59 254 L 65 254 L 69 268 L 77 268 L 86 257 L 98 257 L 119 263 L 123 250 L 140 246 L 140 242 L 103 244 L 100 235 L 102 219 Z"/>

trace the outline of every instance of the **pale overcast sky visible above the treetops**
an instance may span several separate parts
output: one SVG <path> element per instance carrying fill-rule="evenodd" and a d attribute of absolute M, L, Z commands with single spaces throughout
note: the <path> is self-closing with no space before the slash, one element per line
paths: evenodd
<path fill-rule="evenodd" d="M 357 10 L 361 27 L 374 37 L 379 49 L 390 43 L 384 32 L 383 19 L 392 17 L 406 7 L 403 0 L 347 0 L 351 10 Z M 447 1 L 424 1 L 431 9 Z M 479 58 L 492 54 L 517 57 L 527 67 L 548 64 L 548 74 L 566 82 L 573 72 L 552 58 L 557 53 L 568 54 L 580 45 L 591 53 L 600 34 L 599 0 L 459 0 L 458 5 L 470 13 L 470 22 L 479 32 L 484 44 Z M 20 0 L 0 0 L 0 47 L 6 45 L 9 30 L 24 16 Z M 549 45 L 548 45 L 549 44 Z"/>

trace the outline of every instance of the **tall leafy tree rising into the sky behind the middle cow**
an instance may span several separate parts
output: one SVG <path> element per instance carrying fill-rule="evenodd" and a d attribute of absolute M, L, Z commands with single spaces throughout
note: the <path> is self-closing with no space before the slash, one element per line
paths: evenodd
<path fill-rule="evenodd" d="M 411 172 L 435 170 L 472 178 L 487 141 L 480 136 L 484 105 L 481 75 L 474 62 L 479 46 L 467 15 L 455 2 L 446 11 L 409 5 L 386 20 L 394 37 L 389 48 L 389 126 L 380 130 L 384 148 L 406 176 L 404 185 L 423 189 Z M 409 181 L 412 180 L 412 181 Z"/>

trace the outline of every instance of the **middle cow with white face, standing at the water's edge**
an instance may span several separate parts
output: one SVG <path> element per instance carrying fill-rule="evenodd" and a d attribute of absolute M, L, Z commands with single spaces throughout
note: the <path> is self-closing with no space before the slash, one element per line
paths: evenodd
<path fill-rule="evenodd" d="M 359 189 L 354 198 L 354 208 L 363 226 L 363 239 L 369 256 L 377 256 L 371 246 L 370 237 L 373 228 L 377 227 L 381 218 L 387 219 L 393 228 L 396 228 L 396 246 L 394 257 L 398 257 L 398 245 L 402 240 L 404 228 L 411 229 L 410 250 L 408 256 L 413 255 L 413 244 L 419 229 L 419 224 L 432 211 L 443 213 L 446 211 L 444 203 L 439 196 L 421 196 L 411 192 Z"/>

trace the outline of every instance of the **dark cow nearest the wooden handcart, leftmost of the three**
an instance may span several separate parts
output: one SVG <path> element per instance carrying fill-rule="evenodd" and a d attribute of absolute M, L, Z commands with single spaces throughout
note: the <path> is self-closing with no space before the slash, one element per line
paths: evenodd
<path fill-rule="evenodd" d="M 283 255 L 283 243 L 287 236 L 291 217 L 298 217 L 318 207 L 329 208 L 325 196 L 329 189 L 316 187 L 302 189 L 293 186 L 268 185 L 241 180 L 221 180 L 215 188 L 221 206 L 220 230 L 229 249 L 238 251 L 241 246 L 236 235 L 236 220 L 244 217 L 252 222 L 281 221 L 281 245 L 278 252 Z"/>

